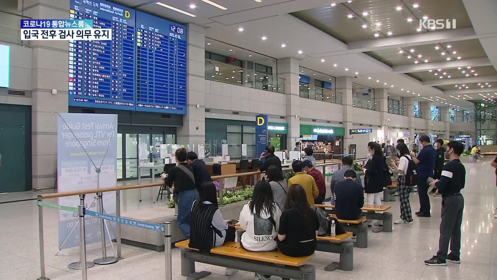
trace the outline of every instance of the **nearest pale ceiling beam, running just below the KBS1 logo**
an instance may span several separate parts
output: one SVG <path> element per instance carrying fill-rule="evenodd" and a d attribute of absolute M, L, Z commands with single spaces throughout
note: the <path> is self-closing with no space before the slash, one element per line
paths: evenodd
<path fill-rule="evenodd" d="M 380 39 L 371 39 L 350 42 L 346 50 L 337 50 L 325 53 L 310 54 L 311 57 L 326 57 L 333 55 L 342 55 L 357 52 L 387 50 L 400 47 L 412 47 L 418 45 L 436 44 L 444 42 L 463 41 L 471 39 L 480 39 L 488 37 L 497 37 L 497 33 L 477 34 L 473 27 L 448 29 L 442 31 L 432 31 L 428 33 L 419 33 L 412 35 L 394 36 Z"/>

